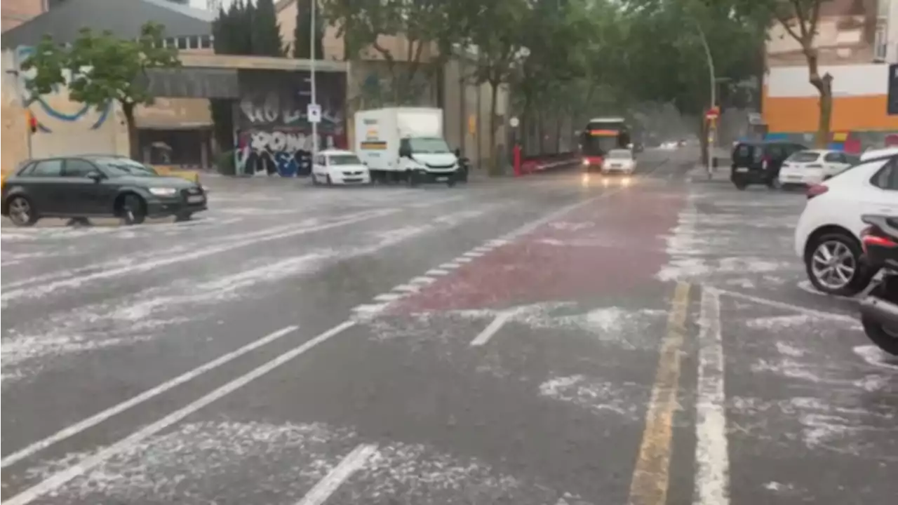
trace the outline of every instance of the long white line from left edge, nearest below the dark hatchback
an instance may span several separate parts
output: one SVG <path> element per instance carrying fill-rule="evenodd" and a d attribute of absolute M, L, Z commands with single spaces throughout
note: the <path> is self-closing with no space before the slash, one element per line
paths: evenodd
<path fill-rule="evenodd" d="M 143 261 L 140 263 L 136 263 L 133 265 L 127 265 L 124 267 L 120 267 L 118 269 L 111 270 L 101 270 L 98 272 L 94 272 L 91 274 L 83 275 L 80 277 L 75 277 L 72 279 L 63 279 L 57 280 L 55 282 L 49 282 L 48 284 L 44 284 L 41 286 L 32 286 L 30 288 L 19 288 L 13 289 L 11 291 L 6 291 L 4 293 L 0 293 L 0 307 L 5 306 L 9 301 L 15 300 L 20 297 L 40 297 L 43 294 L 52 293 L 54 291 L 58 291 L 60 289 L 65 288 L 75 288 L 84 285 L 87 282 L 91 282 L 93 280 L 101 280 L 101 279 L 110 279 L 114 277 L 120 277 L 123 275 L 141 273 L 145 271 L 155 270 L 159 267 L 180 263 L 183 261 L 191 261 L 198 260 L 200 258 L 205 258 L 207 256 L 211 256 L 218 253 L 226 253 L 228 251 L 232 251 L 234 249 L 240 249 L 242 247 L 249 247 L 256 244 L 261 244 L 263 242 L 269 242 L 272 240 L 278 240 L 281 238 L 289 238 L 295 235 L 304 235 L 313 232 L 319 232 L 323 230 L 328 230 L 330 228 L 336 228 L 339 226 L 347 226 L 352 225 L 361 221 L 366 221 L 369 219 L 373 219 L 374 217 L 384 217 L 389 214 L 393 214 L 398 212 L 396 209 L 386 209 L 379 212 L 361 212 L 357 213 L 355 217 L 348 217 L 344 219 L 340 219 L 339 221 L 335 221 L 333 223 L 327 223 L 319 226 L 308 226 L 308 227 L 300 227 L 298 229 L 287 231 L 284 233 L 274 234 L 274 235 L 261 235 L 258 237 L 253 237 L 251 239 L 239 240 L 231 243 L 225 243 L 220 245 L 213 245 L 211 247 L 206 247 L 203 249 L 198 249 L 196 251 L 190 253 L 178 254 L 175 256 L 168 256 L 164 258 L 160 258 L 153 261 Z"/>

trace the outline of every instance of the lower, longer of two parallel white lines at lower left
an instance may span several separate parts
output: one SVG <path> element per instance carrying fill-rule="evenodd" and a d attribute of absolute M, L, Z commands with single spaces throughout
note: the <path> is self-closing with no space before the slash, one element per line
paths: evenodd
<path fill-rule="evenodd" d="M 4 501 L 4 505 L 27 505 L 32 501 L 38 500 L 41 496 L 56 491 L 61 486 L 70 482 L 72 479 L 86 474 L 97 466 L 102 465 L 111 457 L 118 456 L 119 454 L 127 452 L 141 442 L 145 441 L 145 439 L 153 437 L 160 431 L 168 429 L 172 425 L 188 417 L 190 414 L 198 412 L 208 404 L 216 402 L 217 400 L 224 398 L 228 394 L 232 394 L 234 391 L 237 391 L 244 385 L 250 384 L 252 381 L 268 374 L 275 368 L 278 368 L 281 365 L 284 365 L 304 354 L 306 351 L 313 349 L 318 344 L 330 340 L 341 332 L 345 332 L 355 324 L 355 322 L 347 321 L 345 323 L 340 323 L 339 325 L 334 326 L 327 332 L 323 332 L 312 340 L 306 341 L 303 344 L 286 351 L 285 353 L 277 356 L 277 358 L 270 360 L 269 362 L 258 368 L 253 368 L 250 372 L 242 375 L 241 377 L 233 379 L 231 382 L 217 388 L 215 391 L 199 398 L 194 402 L 187 404 L 186 406 L 180 408 L 175 412 L 168 414 L 159 421 L 155 421 L 154 423 L 145 426 L 141 430 L 135 431 L 125 439 L 121 439 L 109 447 L 102 448 L 99 451 L 93 453 L 92 456 L 87 456 L 84 459 L 81 459 L 80 461 L 75 463 L 75 465 L 71 465 L 64 470 L 57 472 L 56 474 L 50 475 L 47 479 L 41 481 L 40 483 L 37 483 L 27 490 L 16 494 L 9 500 Z"/>

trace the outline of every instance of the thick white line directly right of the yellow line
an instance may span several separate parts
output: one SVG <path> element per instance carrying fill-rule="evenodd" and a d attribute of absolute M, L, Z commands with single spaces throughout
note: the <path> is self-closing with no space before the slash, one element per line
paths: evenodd
<path fill-rule="evenodd" d="M 726 440 L 724 348 L 720 294 L 702 289 L 699 315 L 699 385 L 696 401 L 695 505 L 729 504 L 729 450 Z"/>

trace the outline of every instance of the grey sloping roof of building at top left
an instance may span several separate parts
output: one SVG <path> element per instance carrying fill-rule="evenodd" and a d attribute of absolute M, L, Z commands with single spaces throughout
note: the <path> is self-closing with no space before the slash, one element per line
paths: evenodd
<path fill-rule="evenodd" d="M 0 33 L 0 48 L 35 46 L 44 34 L 60 43 L 74 42 L 78 31 L 90 27 L 135 38 L 145 22 L 165 27 L 166 37 L 210 35 L 214 13 L 165 0 L 69 0 L 10 31 Z"/>

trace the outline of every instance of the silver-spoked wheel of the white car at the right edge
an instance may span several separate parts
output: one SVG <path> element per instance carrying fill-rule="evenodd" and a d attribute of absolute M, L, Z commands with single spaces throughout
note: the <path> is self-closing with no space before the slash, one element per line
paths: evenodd
<path fill-rule="evenodd" d="M 805 270 L 814 288 L 841 297 L 853 297 L 863 291 L 876 273 L 864 264 L 858 241 L 842 233 L 815 239 L 805 255 Z"/>

